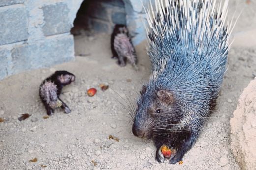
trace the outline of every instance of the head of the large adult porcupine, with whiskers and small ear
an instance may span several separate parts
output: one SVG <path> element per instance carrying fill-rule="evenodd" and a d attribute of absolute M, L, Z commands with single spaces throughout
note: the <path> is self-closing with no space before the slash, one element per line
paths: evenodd
<path fill-rule="evenodd" d="M 170 138 L 184 114 L 174 94 L 164 87 L 143 86 L 132 132 L 146 139 Z"/>

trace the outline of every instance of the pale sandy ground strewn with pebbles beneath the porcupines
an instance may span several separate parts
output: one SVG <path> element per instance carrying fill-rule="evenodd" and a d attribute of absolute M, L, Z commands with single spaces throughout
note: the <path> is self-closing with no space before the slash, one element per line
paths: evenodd
<path fill-rule="evenodd" d="M 216 111 L 182 165 L 159 164 L 153 143 L 131 132 L 126 108 L 136 103 L 139 90 L 150 76 L 145 43 L 136 47 L 136 71 L 131 65 L 121 68 L 110 59 L 110 36 L 98 34 L 75 37 L 76 55 L 84 57 L 76 56 L 72 62 L 0 81 L 0 117 L 5 120 L 0 123 L 0 169 L 238 170 L 230 148 L 229 121 L 239 95 L 256 74 L 256 40 L 252 38 L 256 31 L 251 23 L 246 26 L 239 23 L 234 32 L 239 41 L 234 42 L 228 56 Z M 63 69 L 76 75 L 76 81 L 65 87 L 60 96 L 72 112 L 56 110 L 44 119 L 46 111 L 38 96 L 39 85 L 55 70 Z M 110 88 L 101 91 L 101 83 Z M 98 90 L 93 97 L 86 93 L 91 87 Z M 32 116 L 20 122 L 18 117 L 24 113 Z M 109 139 L 109 135 L 119 142 Z M 38 161 L 29 162 L 32 158 Z"/>

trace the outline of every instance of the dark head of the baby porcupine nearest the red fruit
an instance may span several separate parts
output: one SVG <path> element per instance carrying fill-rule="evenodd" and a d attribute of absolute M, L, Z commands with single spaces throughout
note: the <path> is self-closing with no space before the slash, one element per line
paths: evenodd
<path fill-rule="evenodd" d="M 54 73 L 55 79 L 61 85 L 69 85 L 71 82 L 75 81 L 75 75 L 68 71 L 56 71 Z"/>

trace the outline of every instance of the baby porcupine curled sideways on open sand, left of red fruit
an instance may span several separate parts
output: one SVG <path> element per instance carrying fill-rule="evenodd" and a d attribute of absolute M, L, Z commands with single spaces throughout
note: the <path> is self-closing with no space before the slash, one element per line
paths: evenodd
<path fill-rule="evenodd" d="M 74 81 L 74 74 L 67 71 L 56 71 L 42 82 L 39 87 L 39 96 L 48 115 L 52 115 L 57 107 L 64 109 L 65 113 L 71 112 L 69 107 L 59 98 L 59 95 L 63 86 Z"/>

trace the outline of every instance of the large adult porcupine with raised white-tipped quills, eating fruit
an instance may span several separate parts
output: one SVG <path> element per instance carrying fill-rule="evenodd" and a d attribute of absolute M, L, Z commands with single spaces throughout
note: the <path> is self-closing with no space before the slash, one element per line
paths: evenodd
<path fill-rule="evenodd" d="M 172 149 L 170 164 L 194 145 L 214 108 L 225 72 L 230 25 L 228 0 L 155 0 L 147 10 L 150 81 L 142 87 L 133 134 Z"/>

